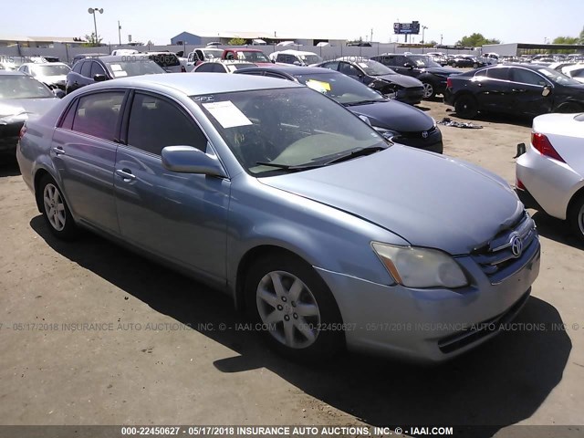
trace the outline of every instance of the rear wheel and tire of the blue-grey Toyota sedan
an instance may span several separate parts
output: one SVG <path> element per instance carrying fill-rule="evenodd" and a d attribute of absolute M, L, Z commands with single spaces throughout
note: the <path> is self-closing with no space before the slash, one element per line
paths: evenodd
<path fill-rule="evenodd" d="M 38 183 L 38 204 L 51 233 L 62 240 L 72 240 L 78 228 L 60 187 L 50 175 L 45 174 Z"/>

